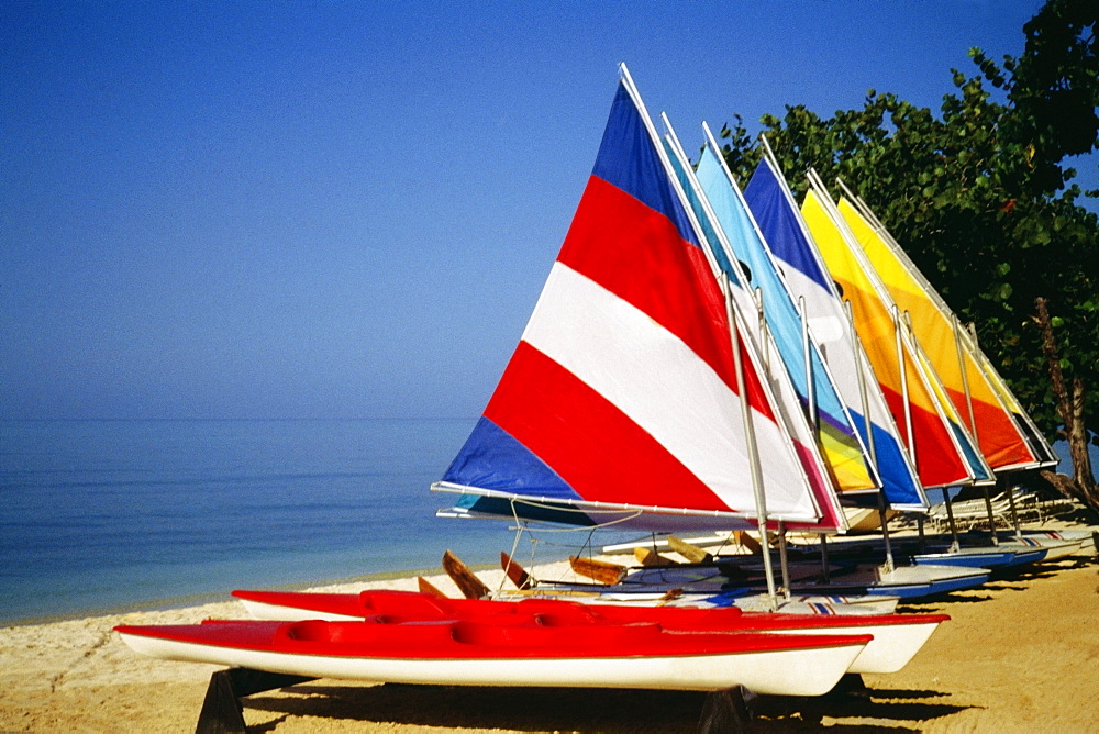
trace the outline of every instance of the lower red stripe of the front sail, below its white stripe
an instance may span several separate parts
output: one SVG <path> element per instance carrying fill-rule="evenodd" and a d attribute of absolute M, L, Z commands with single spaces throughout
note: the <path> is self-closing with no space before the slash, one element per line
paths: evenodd
<path fill-rule="evenodd" d="M 586 500 L 730 509 L 653 436 L 526 342 L 511 357 L 485 416 Z"/>

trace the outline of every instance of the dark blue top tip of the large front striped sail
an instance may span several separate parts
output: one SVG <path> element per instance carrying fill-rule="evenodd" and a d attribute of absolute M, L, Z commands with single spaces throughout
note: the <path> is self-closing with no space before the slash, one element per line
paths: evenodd
<path fill-rule="evenodd" d="M 641 113 L 622 84 L 614 96 L 591 174 L 660 212 L 679 230 L 680 237 L 699 245 Z"/>

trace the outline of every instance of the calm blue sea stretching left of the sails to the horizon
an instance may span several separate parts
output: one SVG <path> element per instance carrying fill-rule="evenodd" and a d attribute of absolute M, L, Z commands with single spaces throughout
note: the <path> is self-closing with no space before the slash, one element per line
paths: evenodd
<path fill-rule="evenodd" d="M 428 490 L 473 425 L 2 421 L 0 620 L 493 563 L 509 523 Z"/>

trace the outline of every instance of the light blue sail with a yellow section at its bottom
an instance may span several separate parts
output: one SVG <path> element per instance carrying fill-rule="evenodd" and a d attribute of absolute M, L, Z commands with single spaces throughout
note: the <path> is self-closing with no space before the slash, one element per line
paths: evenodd
<path fill-rule="evenodd" d="M 730 248 L 728 259 L 742 265 L 736 271 L 747 278 L 747 288 L 758 289 L 764 320 L 787 376 L 804 408 L 815 413 L 817 437 L 832 469 L 836 489 L 841 496 L 857 491 L 876 493 L 880 483 L 876 471 L 867 464 L 866 448 L 855 431 L 854 421 L 815 342 L 806 338 L 801 313 L 740 191 L 709 146 L 699 160 L 697 181 L 715 216 L 721 242 Z"/>

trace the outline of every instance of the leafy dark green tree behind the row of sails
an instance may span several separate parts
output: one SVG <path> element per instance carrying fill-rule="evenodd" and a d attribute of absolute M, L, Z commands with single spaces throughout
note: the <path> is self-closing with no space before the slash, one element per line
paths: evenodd
<path fill-rule="evenodd" d="M 1063 487 L 1099 509 L 1084 444 L 1090 435 L 1099 445 L 1085 427 L 1099 426 L 1099 219 L 1077 203 L 1099 191 L 1081 191 L 1065 163 L 1099 148 L 1097 16 L 1094 0 L 1050 0 L 1023 26 L 1018 59 L 997 65 L 972 49 L 977 70 L 953 70 L 940 116 L 870 90 L 861 109 L 825 119 L 788 105 L 761 123 L 786 171 L 842 178 L 975 323 L 1037 425 L 1072 442 L 1074 478 Z M 739 116 L 722 135 L 730 167 L 747 180 L 758 145 Z M 1062 410 L 1074 401 L 1077 410 Z"/>

